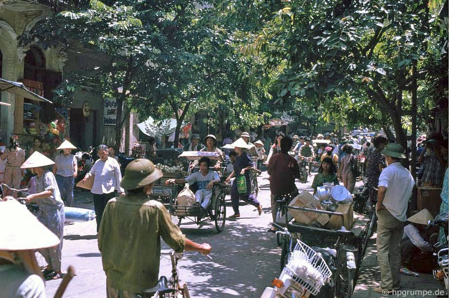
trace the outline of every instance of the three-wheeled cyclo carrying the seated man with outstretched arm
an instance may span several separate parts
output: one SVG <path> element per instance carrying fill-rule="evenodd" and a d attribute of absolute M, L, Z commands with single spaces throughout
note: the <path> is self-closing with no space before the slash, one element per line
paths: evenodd
<path fill-rule="evenodd" d="M 187 160 L 199 160 L 201 157 L 207 157 L 211 160 L 218 160 L 220 158 L 219 153 L 207 151 L 184 151 L 179 155 L 179 158 L 187 158 Z M 209 171 L 215 170 L 214 167 L 209 167 Z M 187 175 L 190 172 L 191 170 L 189 169 Z M 220 175 L 221 172 L 219 172 Z M 188 219 L 199 226 L 206 222 L 215 222 L 217 231 L 223 231 L 226 221 L 226 205 L 224 202 L 226 187 L 228 186 L 222 182 L 214 183 L 210 204 L 206 209 L 203 209 L 200 205 L 179 205 L 177 198 L 173 196 L 168 206 L 172 221 L 178 226 L 181 225 L 183 219 Z M 195 189 L 191 190 L 194 192 Z"/>

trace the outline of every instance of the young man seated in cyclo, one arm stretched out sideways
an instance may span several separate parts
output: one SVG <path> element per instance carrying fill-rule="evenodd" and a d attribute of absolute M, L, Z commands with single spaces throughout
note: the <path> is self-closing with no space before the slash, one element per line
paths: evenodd
<path fill-rule="evenodd" d="M 212 197 L 212 188 L 215 182 L 220 182 L 220 177 L 216 171 L 209 171 L 210 159 L 202 157 L 200 159 L 200 171 L 190 174 L 187 178 L 183 179 L 168 179 L 165 183 L 178 183 L 190 185 L 196 182 L 198 190 L 195 192 L 195 204 L 201 206 L 204 210 L 210 204 L 210 198 Z"/>

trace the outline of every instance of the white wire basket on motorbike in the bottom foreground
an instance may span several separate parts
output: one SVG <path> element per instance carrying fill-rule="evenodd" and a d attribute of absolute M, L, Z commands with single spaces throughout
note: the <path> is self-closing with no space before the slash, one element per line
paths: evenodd
<path fill-rule="evenodd" d="M 297 242 L 285 272 L 312 295 L 317 295 L 332 272 L 320 254 L 304 242 Z"/>

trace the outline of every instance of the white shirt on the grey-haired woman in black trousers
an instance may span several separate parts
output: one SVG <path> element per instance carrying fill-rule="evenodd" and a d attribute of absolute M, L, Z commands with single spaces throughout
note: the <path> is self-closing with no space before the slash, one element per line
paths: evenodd
<path fill-rule="evenodd" d="M 122 174 L 120 172 L 120 165 L 118 162 L 108 156 L 106 161 L 97 160 L 91 168 L 90 173 L 95 175 L 94 185 L 91 192 L 94 194 L 111 193 L 114 190 L 118 192 L 125 192 L 120 187 L 122 181 Z"/>

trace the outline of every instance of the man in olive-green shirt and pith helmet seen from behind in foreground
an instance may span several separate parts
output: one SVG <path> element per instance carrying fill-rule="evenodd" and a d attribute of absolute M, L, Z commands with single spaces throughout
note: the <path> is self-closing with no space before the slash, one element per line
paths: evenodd
<path fill-rule="evenodd" d="M 209 244 L 192 242 L 182 234 L 164 205 L 149 200 L 154 183 L 163 175 L 148 159 L 131 161 L 120 184 L 127 195 L 112 198 L 106 205 L 98 248 L 108 298 L 134 298 L 157 283 L 161 237 L 177 253 L 210 252 Z M 124 233 L 123 227 L 127 232 Z"/>

